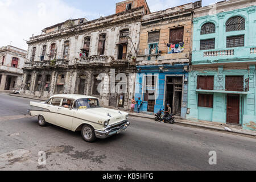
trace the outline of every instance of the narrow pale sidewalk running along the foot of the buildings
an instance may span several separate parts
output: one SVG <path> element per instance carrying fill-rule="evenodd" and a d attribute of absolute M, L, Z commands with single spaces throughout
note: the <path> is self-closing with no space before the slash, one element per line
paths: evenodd
<path fill-rule="evenodd" d="M 15 96 L 15 97 L 23 97 L 23 98 L 30 98 L 32 100 L 39 100 L 39 101 L 46 101 L 47 98 L 38 98 L 38 97 L 32 97 L 32 96 L 24 96 L 20 94 L 8 94 L 9 96 Z M 110 109 L 119 109 L 122 111 L 126 111 L 127 113 L 130 112 L 130 110 L 119 108 L 119 107 L 112 107 L 112 106 L 105 106 Z M 149 114 L 142 114 L 142 113 L 129 113 L 130 116 L 133 117 L 141 117 L 141 118 L 148 118 L 152 119 L 152 122 L 156 122 L 154 120 L 155 115 L 149 115 Z M 226 125 L 225 123 L 218 123 L 218 122 L 207 122 L 207 121 L 189 121 L 187 119 L 181 119 L 180 117 L 175 117 L 177 123 L 180 123 L 181 125 L 189 125 L 189 126 L 196 126 L 201 127 L 204 129 L 211 129 L 211 130 L 218 130 L 218 131 L 225 131 L 227 133 L 236 133 L 236 134 L 243 134 L 243 135 L 250 135 L 253 137 L 256 137 L 256 131 L 250 131 L 250 130 L 244 130 L 241 126 L 234 126 L 234 125 Z M 225 130 L 225 127 L 228 127 L 232 131 Z"/>

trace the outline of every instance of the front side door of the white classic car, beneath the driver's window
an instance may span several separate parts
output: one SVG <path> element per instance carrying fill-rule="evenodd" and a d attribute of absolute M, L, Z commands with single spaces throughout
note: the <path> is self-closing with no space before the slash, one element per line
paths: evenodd
<path fill-rule="evenodd" d="M 68 99 L 63 98 L 63 100 L 61 101 L 61 106 L 58 107 L 56 117 L 56 124 L 69 130 L 72 130 L 72 122 L 74 115 L 74 110 L 72 109 L 74 101 L 71 101 L 71 109 L 65 108 L 64 105 L 67 104 Z"/>

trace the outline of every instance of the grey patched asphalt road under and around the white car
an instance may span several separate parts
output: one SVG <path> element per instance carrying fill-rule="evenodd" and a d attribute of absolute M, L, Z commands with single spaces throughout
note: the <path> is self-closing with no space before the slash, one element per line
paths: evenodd
<path fill-rule="evenodd" d="M 0 94 L 0 170 L 255 170 L 256 139 L 130 117 L 123 133 L 94 143 L 28 117 L 29 99 Z M 38 152 L 46 152 L 46 166 Z M 217 164 L 209 164 L 209 152 Z"/>

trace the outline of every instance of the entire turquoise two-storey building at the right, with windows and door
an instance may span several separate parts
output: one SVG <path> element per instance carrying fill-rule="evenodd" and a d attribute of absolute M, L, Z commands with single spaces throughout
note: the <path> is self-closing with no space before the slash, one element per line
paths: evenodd
<path fill-rule="evenodd" d="M 228 1 L 195 10 L 187 119 L 256 130 L 255 5 Z"/>

